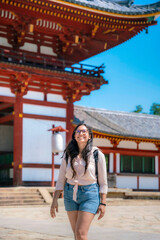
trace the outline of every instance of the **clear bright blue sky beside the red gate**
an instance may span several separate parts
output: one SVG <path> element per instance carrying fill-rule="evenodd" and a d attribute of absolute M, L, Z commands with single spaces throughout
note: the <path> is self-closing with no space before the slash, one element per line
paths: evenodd
<path fill-rule="evenodd" d="M 157 1 L 135 0 L 135 4 Z M 103 75 L 109 84 L 101 86 L 75 105 L 132 112 L 137 105 L 149 113 L 152 103 L 160 103 L 160 17 L 158 24 L 136 37 L 83 63 L 105 64 Z"/>

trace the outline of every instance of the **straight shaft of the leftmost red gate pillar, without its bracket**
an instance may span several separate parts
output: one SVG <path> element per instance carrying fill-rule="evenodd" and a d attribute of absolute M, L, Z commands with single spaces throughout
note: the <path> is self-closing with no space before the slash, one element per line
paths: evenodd
<path fill-rule="evenodd" d="M 16 95 L 14 104 L 14 174 L 13 185 L 22 185 L 22 139 L 23 139 L 23 103 L 22 96 Z"/>

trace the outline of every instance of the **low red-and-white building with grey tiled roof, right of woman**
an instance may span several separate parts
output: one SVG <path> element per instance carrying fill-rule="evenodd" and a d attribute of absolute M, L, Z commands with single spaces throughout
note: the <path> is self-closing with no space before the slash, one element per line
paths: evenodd
<path fill-rule="evenodd" d="M 74 124 L 93 129 L 110 187 L 160 190 L 160 116 L 74 107 Z"/>

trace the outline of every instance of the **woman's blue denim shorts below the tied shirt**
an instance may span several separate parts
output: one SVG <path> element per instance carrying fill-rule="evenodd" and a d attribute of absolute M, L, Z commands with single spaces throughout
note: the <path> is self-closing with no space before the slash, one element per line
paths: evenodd
<path fill-rule="evenodd" d="M 73 200 L 74 185 L 69 183 L 64 187 L 64 205 L 66 211 L 84 211 L 93 214 L 97 213 L 100 195 L 97 183 L 78 186 L 77 201 Z"/>

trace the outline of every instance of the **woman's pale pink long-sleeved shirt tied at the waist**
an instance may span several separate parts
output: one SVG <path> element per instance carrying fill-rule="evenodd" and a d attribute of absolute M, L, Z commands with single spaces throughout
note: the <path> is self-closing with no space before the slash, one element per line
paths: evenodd
<path fill-rule="evenodd" d="M 76 157 L 74 161 L 74 169 L 76 176 L 73 176 L 73 170 L 70 164 L 70 158 L 68 158 L 68 164 L 66 164 L 65 157 L 62 159 L 59 177 L 56 183 L 56 190 L 63 190 L 65 182 L 75 185 L 75 192 L 77 192 L 78 185 L 89 185 L 97 183 L 97 178 L 95 174 L 95 159 L 93 152 L 96 150 L 96 147 L 92 148 L 91 155 L 89 158 L 89 164 L 86 173 L 85 171 L 85 161 L 82 158 Z M 66 166 L 67 165 L 67 166 Z M 107 170 L 106 170 L 106 160 L 104 154 L 98 150 L 98 183 L 99 183 L 99 192 L 107 194 L 108 184 L 107 184 Z M 75 193 L 76 194 L 76 193 Z M 73 199 L 76 197 L 73 196 Z"/>

